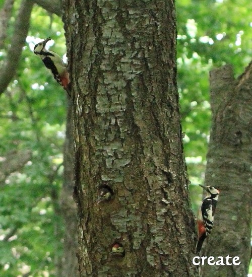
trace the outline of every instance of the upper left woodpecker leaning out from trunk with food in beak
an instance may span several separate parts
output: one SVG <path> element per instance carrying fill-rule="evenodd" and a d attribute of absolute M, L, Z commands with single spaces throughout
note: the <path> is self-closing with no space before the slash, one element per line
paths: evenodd
<path fill-rule="evenodd" d="M 51 71 L 54 79 L 69 93 L 69 73 L 67 64 L 62 61 L 60 56 L 53 51 L 46 50 L 46 43 L 51 38 L 46 38 L 44 41 L 35 45 L 33 51 L 43 61 L 44 65 Z"/>

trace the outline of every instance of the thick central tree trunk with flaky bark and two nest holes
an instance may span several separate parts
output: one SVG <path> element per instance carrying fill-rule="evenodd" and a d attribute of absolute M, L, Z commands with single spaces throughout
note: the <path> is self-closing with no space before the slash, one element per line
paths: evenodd
<path fill-rule="evenodd" d="M 66 0 L 64 21 L 80 276 L 196 276 L 174 2 Z M 97 203 L 100 186 L 112 200 Z"/>

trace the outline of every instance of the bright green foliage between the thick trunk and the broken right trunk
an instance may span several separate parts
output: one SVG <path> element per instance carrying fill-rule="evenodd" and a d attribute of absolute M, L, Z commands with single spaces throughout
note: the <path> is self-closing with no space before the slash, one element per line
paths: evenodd
<path fill-rule="evenodd" d="M 204 182 L 211 128 L 209 71 L 226 63 L 242 74 L 251 56 L 250 1 L 182 0 L 177 3 L 177 66 L 184 152 L 196 212 Z"/>

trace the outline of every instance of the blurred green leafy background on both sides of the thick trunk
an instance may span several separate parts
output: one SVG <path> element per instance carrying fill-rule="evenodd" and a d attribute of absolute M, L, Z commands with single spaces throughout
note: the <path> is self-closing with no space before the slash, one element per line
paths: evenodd
<path fill-rule="evenodd" d="M 64 221 L 59 194 L 67 100 L 33 47 L 49 36 L 53 40 L 48 45 L 61 56 L 66 46 L 59 2 L 36 3 L 0 0 L 1 276 L 56 276 L 62 265 Z M 18 20 L 24 30 L 19 18 L 22 5 L 22 16 L 30 18 L 27 34 L 17 30 Z M 196 212 L 211 124 L 208 73 L 213 66 L 231 63 L 237 77 L 249 63 L 252 4 L 249 0 L 181 0 L 176 9 L 180 112 Z M 18 40 L 22 35 L 25 44 Z M 8 59 L 12 67 L 6 66 Z M 10 83 L 6 76 L 13 76 Z"/>

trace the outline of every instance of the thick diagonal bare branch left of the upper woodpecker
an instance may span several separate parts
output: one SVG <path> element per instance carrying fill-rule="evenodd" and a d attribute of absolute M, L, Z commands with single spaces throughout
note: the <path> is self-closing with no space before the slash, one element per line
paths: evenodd
<path fill-rule="evenodd" d="M 0 95 L 6 90 L 16 73 L 19 58 L 30 26 L 30 15 L 33 7 L 31 0 L 23 0 L 14 27 L 11 47 L 6 61 L 0 70 Z"/>

